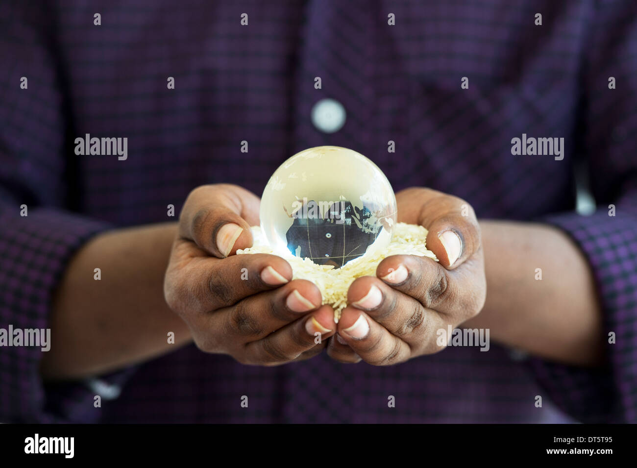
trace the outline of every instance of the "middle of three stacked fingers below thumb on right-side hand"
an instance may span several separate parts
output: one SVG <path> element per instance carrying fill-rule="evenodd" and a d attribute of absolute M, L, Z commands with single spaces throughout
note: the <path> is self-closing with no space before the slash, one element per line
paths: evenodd
<path fill-rule="evenodd" d="M 404 294 L 373 276 L 357 278 L 347 292 L 348 304 L 365 311 L 392 335 L 410 345 L 412 350 L 436 352 L 427 347 L 435 341 L 435 330 L 445 320 L 432 309 L 425 308 L 412 296 Z"/>

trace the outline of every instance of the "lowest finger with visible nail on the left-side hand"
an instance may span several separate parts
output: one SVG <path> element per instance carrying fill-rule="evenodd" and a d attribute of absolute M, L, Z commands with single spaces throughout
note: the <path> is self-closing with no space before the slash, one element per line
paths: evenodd
<path fill-rule="evenodd" d="M 308 358 L 303 353 L 317 347 L 321 350 L 325 340 L 334 334 L 335 325 L 333 309 L 322 306 L 309 317 L 298 318 L 263 339 L 247 343 L 245 361 L 247 364 L 280 365 Z"/>

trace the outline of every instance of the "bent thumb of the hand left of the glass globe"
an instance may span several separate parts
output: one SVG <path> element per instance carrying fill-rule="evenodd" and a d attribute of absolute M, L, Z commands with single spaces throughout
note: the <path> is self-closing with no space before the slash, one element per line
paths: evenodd
<path fill-rule="evenodd" d="M 259 197 L 237 185 L 192 190 L 180 215 L 180 236 L 218 258 L 252 246 L 250 224 L 259 223 Z"/>

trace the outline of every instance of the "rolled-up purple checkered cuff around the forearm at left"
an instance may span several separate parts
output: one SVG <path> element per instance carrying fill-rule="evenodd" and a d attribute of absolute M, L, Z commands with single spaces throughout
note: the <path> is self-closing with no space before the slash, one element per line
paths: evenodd
<path fill-rule="evenodd" d="M 0 334 L 4 329 L 11 344 L 19 343 L 15 330 L 23 330 L 17 333 L 26 337 L 24 330 L 44 329 L 45 337 L 55 288 L 69 260 L 87 240 L 111 226 L 46 208 L 33 208 L 27 216 L 5 213 L 0 226 Z M 8 337 L 10 329 L 13 337 Z M 0 422 L 96 422 L 100 411 L 94 406 L 95 388 L 87 382 L 45 385 L 39 365 L 47 351 L 24 341 L 8 346 L 0 339 Z M 121 385 L 131 372 L 125 369 L 101 379 Z"/>

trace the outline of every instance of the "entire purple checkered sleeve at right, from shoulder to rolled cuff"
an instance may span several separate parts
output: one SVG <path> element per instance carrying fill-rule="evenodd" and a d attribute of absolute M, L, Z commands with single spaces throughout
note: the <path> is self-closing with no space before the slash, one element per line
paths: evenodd
<path fill-rule="evenodd" d="M 531 358 L 529 365 L 550 399 L 577 420 L 635 423 L 637 3 L 599 2 L 591 25 L 582 66 L 579 154 L 597 208 L 590 216 L 559 213 L 545 222 L 567 232 L 589 261 L 603 313 L 606 365 L 590 370 L 540 358 Z"/>

